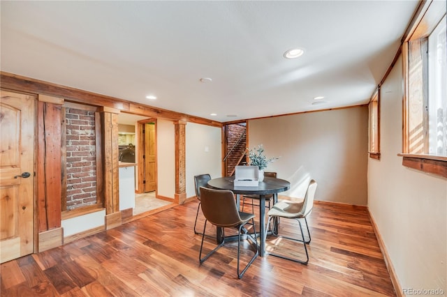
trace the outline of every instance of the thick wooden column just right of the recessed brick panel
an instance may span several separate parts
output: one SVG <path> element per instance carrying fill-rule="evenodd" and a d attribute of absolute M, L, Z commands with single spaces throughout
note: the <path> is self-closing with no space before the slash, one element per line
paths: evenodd
<path fill-rule="evenodd" d="M 119 168 L 118 168 L 118 114 L 119 109 L 103 107 L 101 114 L 101 141 L 103 145 L 103 185 L 105 207 L 105 229 L 121 224 L 119 212 Z"/>

